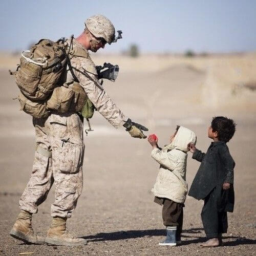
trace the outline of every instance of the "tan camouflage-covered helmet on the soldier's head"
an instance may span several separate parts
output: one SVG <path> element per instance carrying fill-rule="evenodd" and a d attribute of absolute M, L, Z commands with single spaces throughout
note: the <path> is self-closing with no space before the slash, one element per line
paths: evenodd
<path fill-rule="evenodd" d="M 94 15 L 89 17 L 85 24 L 95 37 L 102 37 L 109 44 L 115 39 L 115 27 L 107 17 L 100 14 Z"/>

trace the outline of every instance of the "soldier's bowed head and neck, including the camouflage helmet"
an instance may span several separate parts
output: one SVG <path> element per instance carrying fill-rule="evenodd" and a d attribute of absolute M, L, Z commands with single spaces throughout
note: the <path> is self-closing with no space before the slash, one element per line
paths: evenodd
<path fill-rule="evenodd" d="M 103 15 L 89 17 L 84 23 L 86 28 L 77 38 L 87 50 L 97 52 L 105 44 L 111 44 L 115 39 L 115 28 L 111 21 Z"/>

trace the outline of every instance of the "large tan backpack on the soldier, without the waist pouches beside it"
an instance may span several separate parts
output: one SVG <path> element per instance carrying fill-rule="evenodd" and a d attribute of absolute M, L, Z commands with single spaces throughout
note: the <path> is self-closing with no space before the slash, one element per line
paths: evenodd
<path fill-rule="evenodd" d="M 65 45 L 60 40 L 41 39 L 30 50 L 22 52 L 16 72 L 9 70 L 15 74 L 20 90 L 20 110 L 36 118 L 49 115 L 46 101 L 57 86 L 66 61 Z"/>

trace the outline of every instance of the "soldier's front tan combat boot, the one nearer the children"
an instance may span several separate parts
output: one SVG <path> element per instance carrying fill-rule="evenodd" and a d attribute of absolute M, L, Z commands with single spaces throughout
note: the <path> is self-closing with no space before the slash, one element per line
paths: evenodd
<path fill-rule="evenodd" d="M 66 218 L 53 217 L 52 225 L 48 229 L 46 243 L 52 245 L 86 245 L 87 241 L 82 238 L 74 238 L 66 229 Z"/>

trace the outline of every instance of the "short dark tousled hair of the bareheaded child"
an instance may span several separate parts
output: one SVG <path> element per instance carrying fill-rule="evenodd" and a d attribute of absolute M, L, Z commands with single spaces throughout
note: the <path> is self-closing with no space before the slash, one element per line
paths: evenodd
<path fill-rule="evenodd" d="M 236 125 L 232 119 L 224 116 L 213 117 L 211 121 L 212 131 L 218 132 L 218 139 L 224 142 L 228 142 L 233 137 Z"/>

